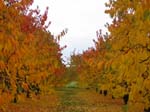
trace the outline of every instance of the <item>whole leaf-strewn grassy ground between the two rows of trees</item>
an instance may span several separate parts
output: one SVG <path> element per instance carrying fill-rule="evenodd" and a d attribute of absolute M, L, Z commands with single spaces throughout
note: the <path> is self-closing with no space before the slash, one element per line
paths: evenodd
<path fill-rule="evenodd" d="M 103 96 L 94 90 L 57 88 L 53 94 L 10 103 L 0 112 L 124 112 L 121 99 Z"/>

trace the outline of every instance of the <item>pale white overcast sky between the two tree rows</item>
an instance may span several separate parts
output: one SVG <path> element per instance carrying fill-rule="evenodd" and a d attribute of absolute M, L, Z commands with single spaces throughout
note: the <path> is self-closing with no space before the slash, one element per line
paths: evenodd
<path fill-rule="evenodd" d="M 52 34 L 57 35 L 63 29 L 68 28 L 68 33 L 62 37 L 60 45 L 67 45 L 63 50 L 63 57 L 69 57 L 76 49 L 81 53 L 88 47 L 94 46 L 96 31 L 106 31 L 104 25 L 110 21 L 108 15 L 104 14 L 106 9 L 104 3 L 108 0 L 35 0 L 43 12 L 49 7 L 48 21 L 51 21 L 49 29 Z"/>

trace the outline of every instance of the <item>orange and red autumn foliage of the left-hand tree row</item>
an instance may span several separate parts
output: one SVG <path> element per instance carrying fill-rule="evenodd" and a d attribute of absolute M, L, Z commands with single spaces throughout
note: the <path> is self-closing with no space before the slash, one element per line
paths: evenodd
<path fill-rule="evenodd" d="M 45 24 L 48 8 L 40 14 L 32 3 L 0 0 L 0 105 L 55 86 L 65 70 L 62 48 Z"/>

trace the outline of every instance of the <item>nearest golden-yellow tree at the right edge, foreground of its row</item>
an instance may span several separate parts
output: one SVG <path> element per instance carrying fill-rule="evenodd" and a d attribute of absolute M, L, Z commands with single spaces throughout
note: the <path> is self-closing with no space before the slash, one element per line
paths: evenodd
<path fill-rule="evenodd" d="M 112 49 L 119 54 L 115 62 L 118 64 L 117 80 L 125 83 L 122 86 L 128 89 L 130 103 L 141 109 L 141 105 L 148 108 L 150 103 L 150 90 L 145 85 L 150 82 L 149 4 L 148 0 L 112 0 L 106 4 L 109 7 L 106 13 L 113 18 L 108 27 Z"/>

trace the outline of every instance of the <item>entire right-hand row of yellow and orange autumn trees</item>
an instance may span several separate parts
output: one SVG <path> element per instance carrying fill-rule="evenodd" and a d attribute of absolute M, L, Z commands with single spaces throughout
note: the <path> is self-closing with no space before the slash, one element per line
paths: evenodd
<path fill-rule="evenodd" d="M 110 0 L 110 34 L 97 31 L 95 47 L 72 55 L 83 87 L 129 95 L 129 112 L 150 108 L 150 1 Z"/>

